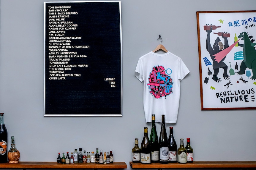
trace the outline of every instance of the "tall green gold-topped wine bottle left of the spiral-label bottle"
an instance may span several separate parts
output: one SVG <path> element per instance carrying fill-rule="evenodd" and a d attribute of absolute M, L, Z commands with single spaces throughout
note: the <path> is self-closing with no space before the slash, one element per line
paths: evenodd
<path fill-rule="evenodd" d="M 152 114 L 152 127 L 150 133 L 151 162 L 159 162 L 159 143 L 157 137 L 155 115 Z"/>

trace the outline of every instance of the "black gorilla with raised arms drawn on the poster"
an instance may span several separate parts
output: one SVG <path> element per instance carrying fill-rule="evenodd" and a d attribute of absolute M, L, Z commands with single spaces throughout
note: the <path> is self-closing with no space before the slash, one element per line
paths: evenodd
<path fill-rule="evenodd" d="M 222 68 L 222 69 L 224 69 L 223 77 L 225 80 L 228 80 L 228 79 L 230 79 L 230 77 L 229 77 L 229 75 L 227 75 L 227 65 L 223 62 L 225 60 L 226 56 L 221 61 L 219 61 L 219 63 L 214 59 L 215 56 L 213 56 L 214 54 L 217 54 L 218 52 L 220 52 L 223 49 L 228 47 L 227 37 L 224 37 L 222 35 L 225 45 L 223 45 L 223 43 L 220 41 L 219 37 L 216 38 L 213 48 L 212 48 L 211 43 L 210 43 L 210 33 L 212 32 L 212 27 L 210 30 L 206 30 L 206 32 L 207 32 L 206 49 L 209 52 L 211 59 L 213 61 L 212 67 L 214 69 L 214 74 L 212 76 L 212 79 L 216 82 L 221 81 L 220 78 L 217 77 L 217 75 L 219 73 L 219 68 Z"/>

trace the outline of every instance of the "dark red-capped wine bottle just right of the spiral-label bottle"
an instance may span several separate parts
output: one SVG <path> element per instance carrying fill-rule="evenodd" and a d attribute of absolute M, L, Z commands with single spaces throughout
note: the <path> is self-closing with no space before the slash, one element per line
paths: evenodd
<path fill-rule="evenodd" d="M 173 127 L 170 127 L 168 144 L 169 144 L 169 162 L 176 163 L 177 162 L 177 144 L 173 136 Z"/>

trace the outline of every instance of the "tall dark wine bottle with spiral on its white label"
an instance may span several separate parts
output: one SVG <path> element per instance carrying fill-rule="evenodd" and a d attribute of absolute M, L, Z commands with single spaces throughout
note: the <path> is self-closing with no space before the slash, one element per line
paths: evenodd
<path fill-rule="evenodd" d="M 168 138 L 165 129 L 165 115 L 162 114 L 162 125 L 159 136 L 159 163 L 169 162 Z"/>

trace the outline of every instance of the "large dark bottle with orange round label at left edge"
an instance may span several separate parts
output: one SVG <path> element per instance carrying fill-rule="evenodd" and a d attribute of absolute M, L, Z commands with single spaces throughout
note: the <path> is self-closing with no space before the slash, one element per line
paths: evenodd
<path fill-rule="evenodd" d="M 4 113 L 0 113 L 0 163 L 6 163 L 7 160 L 7 129 L 4 124 Z"/>

